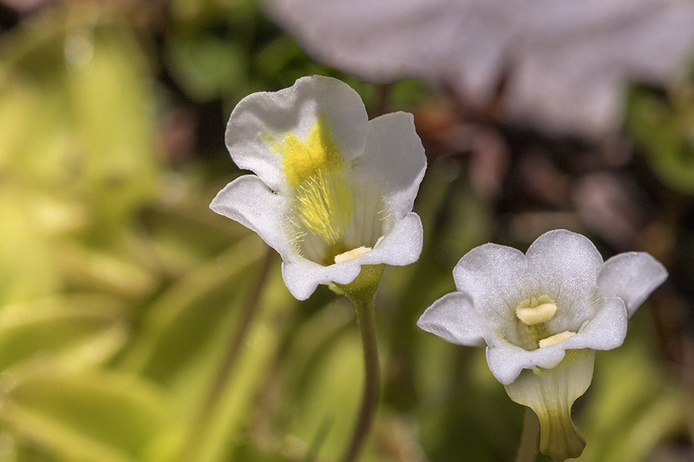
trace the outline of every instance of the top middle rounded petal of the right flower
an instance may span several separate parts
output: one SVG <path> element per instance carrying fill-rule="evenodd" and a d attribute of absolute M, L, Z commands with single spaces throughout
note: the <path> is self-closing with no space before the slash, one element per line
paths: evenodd
<path fill-rule="evenodd" d="M 536 292 L 553 298 L 559 308 L 548 323 L 550 329 L 575 331 L 593 317 L 602 256 L 590 239 L 567 230 L 553 230 L 538 237 L 525 255 L 528 272 L 539 284 Z"/>

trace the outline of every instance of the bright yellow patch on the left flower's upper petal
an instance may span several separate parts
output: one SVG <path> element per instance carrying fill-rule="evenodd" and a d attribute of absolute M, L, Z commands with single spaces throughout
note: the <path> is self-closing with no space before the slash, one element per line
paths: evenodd
<path fill-rule="evenodd" d="M 316 119 L 305 141 L 294 133 L 287 133 L 282 141 L 273 144 L 273 150 L 282 155 L 282 169 L 290 187 L 301 185 L 319 171 L 337 171 L 344 167 L 337 143 L 323 117 Z"/>

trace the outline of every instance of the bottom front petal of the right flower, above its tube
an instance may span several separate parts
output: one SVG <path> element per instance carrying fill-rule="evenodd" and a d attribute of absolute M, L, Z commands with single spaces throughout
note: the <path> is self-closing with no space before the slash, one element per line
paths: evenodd
<path fill-rule="evenodd" d="M 573 337 L 572 337 L 573 338 Z M 537 350 L 524 350 L 521 347 L 487 337 L 486 363 L 496 379 L 504 385 L 514 382 L 523 369 L 539 366 L 551 369 L 564 359 L 564 348 L 551 345 Z"/>

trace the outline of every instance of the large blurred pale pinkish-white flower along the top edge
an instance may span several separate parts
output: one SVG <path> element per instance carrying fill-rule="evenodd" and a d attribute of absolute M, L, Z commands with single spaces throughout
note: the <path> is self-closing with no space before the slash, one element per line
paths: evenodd
<path fill-rule="evenodd" d="M 665 82 L 694 53 L 672 0 L 267 0 L 319 60 L 367 80 L 428 77 L 484 105 L 505 80 L 517 121 L 618 130 L 627 80 Z"/>

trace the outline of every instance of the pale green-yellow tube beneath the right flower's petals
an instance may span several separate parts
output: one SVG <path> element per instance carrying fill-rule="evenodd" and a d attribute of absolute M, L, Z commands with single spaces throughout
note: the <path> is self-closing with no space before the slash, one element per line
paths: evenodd
<path fill-rule="evenodd" d="M 586 440 L 571 420 L 571 406 L 586 393 L 593 379 L 593 350 L 571 350 L 548 370 L 524 370 L 506 384 L 511 400 L 532 408 L 540 420 L 540 452 L 555 461 L 581 455 Z"/>

